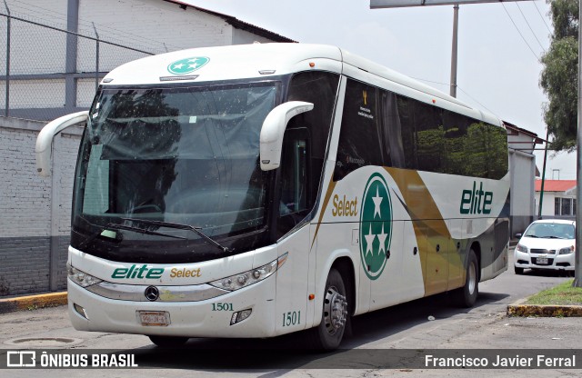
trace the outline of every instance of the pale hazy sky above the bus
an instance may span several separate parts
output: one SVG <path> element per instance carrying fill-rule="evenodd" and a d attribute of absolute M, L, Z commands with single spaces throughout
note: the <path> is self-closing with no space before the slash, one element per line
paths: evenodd
<path fill-rule="evenodd" d="M 449 93 L 453 5 L 370 9 L 369 0 L 182 0 L 284 35 L 336 45 Z M 546 138 L 539 62 L 552 30 L 544 0 L 461 5 L 457 98 Z M 538 147 L 542 147 L 538 145 Z M 542 171 L 544 152 L 536 152 Z M 576 179 L 576 153 L 548 153 L 547 179 Z"/>

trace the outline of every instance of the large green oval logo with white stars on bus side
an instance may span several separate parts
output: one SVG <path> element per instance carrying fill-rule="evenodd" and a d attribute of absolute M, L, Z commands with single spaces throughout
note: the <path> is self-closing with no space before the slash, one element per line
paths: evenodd
<path fill-rule="evenodd" d="M 360 255 L 364 272 L 376 280 L 386 267 L 392 239 L 392 202 L 386 180 L 372 174 L 360 210 Z"/>

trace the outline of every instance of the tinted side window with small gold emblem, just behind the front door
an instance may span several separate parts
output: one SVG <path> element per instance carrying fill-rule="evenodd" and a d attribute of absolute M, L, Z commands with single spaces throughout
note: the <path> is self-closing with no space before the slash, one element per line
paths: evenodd
<path fill-rule="evenodd" d="M 378 121 L 378 95 L 374 86 L 348 80 L 334 180 L 357 168 L 384 165 Z"/>

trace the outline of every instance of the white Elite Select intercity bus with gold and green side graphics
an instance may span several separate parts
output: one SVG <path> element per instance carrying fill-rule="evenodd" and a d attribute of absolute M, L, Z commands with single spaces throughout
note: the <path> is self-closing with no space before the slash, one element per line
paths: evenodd
<path fill-rule="evenodd" d="M 507 270 L 507 132 L 493 115 L 327 45 L 199 48 L 105 76 L 75 172 L 77 330 L 190 337 L 306 330 L 435 293 L 475 303 Z"/>

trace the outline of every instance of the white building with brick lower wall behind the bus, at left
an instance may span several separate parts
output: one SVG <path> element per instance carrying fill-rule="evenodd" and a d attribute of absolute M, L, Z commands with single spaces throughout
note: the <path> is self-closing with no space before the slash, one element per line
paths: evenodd
<path fill-rule="evenodd" d="M 101 78 L 117 65 L 254 42 L 294 41 L 179 1 L 0 4 L 0 297 L 65 289 L 82 131 L 68 128 L 55 137 L 53 174 L 41 178 L 35 140 L 46 121 L 87 109 Z"/>

